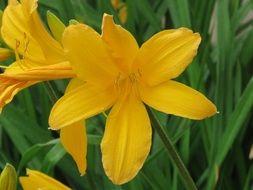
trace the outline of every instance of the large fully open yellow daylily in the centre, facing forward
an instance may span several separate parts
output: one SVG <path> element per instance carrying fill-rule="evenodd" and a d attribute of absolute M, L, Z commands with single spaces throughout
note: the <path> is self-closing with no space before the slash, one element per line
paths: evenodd
<path fill-rule="evenodd" d="M 152 129 L 144 103 L 197 120 L 217 112 L 200 92 L 173 80 L 192 62 L 200 41 L 198 33 L 180 28 L 159 32 L 139 48 L 109 15 L 104 15 L 102 35 L 84 24 L 67 27 L 63 46 L 81 82 L 54 105 L 51 129 L 112 107 L 101 143 L 103 167 L 113 183 L 128 182 L 150 151 Z"/>

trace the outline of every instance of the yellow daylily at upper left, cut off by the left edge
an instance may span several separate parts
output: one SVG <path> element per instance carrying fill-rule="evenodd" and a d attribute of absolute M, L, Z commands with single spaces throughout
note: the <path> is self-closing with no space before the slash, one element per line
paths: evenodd
<path fill-rule="evenodd" d="M 11 0 L 3 12 L 2 38 L 17 60 L 0 74 L 0 110 L 28 86 L 75 76 L 61 44 L 44 28 L 37 6 L 37 0 Z"/>

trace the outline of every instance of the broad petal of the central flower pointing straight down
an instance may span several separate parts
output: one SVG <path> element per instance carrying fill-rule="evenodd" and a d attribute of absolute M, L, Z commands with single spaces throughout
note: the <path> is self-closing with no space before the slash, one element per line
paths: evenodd
<path fill-rule="evenodd" d="M 101 143 L 103 166 L 113 183 L 135 177 L 150 151 L 151 133 L 145 106 L 134 94 L 113 106 Z"/>

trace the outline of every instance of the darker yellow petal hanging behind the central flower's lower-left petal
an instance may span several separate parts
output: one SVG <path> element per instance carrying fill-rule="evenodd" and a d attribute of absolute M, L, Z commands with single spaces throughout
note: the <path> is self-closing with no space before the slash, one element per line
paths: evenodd
<path fill-rule="evenodd" d="M 86 171 L 87 135 L 83 121 L 79 121 L 61 129 L 61 142 L 66 151 L 75 160 L 81 175 Z"/>

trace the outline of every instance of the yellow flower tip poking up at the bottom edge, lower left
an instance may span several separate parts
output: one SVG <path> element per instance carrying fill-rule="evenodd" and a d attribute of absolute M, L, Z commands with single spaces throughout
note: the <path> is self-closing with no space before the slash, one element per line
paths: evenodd
<path fill-rule="evenodd" d="M 27 169 L 26 173 L 28 176 L 19 178 L 24 190 L 70 190 L 69 187 L 39 171 Z"/>

